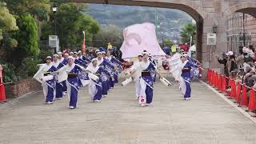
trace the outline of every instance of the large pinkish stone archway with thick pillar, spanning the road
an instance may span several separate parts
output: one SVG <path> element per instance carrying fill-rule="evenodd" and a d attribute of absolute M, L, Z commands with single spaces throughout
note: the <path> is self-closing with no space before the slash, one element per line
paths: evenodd
<path fill-rule="evenodd" d="M 197 22 L 198 27 L 198 59 L 202 65 L 209 68 L 219 68 L 214 54 L 220 54 L 227 50 L 226 18 L 238 10 L 247 13 L 251 8 L 256 8 L 255 0 L 223 1 L 223 0 L 64 0 L 65 2 L 103 3 L 127 6 L 152 6 L 170 9 L 178 9 L 190 14 Z M 214 24 L 218 26 L 217 43 L 210 54 L 210 46 L 207 46 L 207 33 L 213 32 Z M 211 56 L 211 58 L 210 58 Z M 210 61 L 211 60 L 211 61 Z"/>

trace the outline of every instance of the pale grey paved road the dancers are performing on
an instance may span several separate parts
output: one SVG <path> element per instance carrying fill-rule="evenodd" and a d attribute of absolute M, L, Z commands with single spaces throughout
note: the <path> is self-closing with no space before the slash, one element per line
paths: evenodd
<path fill-rule="evenodd" d="M 100 103 L 80 91 L 78 109 L 68 98 L 43 103 L 42 93 L 0 109 L 0 143 L 9 144 L 255 144 L 256 124 L 200 82 L 190 102 L 177 84 L 155 84 L 154 106 L 134 101 L 134 85 L 117 86 Z"/>

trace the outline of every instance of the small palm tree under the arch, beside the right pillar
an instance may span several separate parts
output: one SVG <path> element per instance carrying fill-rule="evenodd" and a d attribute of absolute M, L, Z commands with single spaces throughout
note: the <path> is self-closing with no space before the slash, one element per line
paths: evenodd
<path fill-rule="evenodd" d="M 192 36 L 192 45 L 195 43 L 197 26 L 193 23 L 188 23 L 182 28 L 181 37 L 182 43 L 190 43 L 190 36 Z"/>

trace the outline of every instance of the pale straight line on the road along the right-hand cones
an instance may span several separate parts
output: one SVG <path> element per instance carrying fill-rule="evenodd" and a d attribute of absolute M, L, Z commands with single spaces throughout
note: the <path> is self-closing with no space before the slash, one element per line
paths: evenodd
<path fill-rule="evenodd" d="M 234 102 L 231 102 L 224 94 L 219 93 L 217 90 L 215 90 L 213 87 L 209 86 L 206 82 L 203 82 L 202 80 L 199 80 L 202 84 L 207 86 L 210 90 L 213 90 L 215 94 L 217 94 L 219 97 L 223 98 L 227 103 L 229 103 L 231 106 L 233 106 L 236 110 L 238 110 L 240 113 L 242 113 L 244 116 L 249 118 L 252 122 L 256 123 L 256 118 L 253 118 L 248 114 L 245 110 L 242 110 L 241 107 L 238 107 L 234 104 Z"/>

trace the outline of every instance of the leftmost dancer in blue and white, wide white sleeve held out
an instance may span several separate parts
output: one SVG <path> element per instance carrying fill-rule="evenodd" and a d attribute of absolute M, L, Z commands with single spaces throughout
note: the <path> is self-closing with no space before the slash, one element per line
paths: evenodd
<path fill-rule="evenodd" d="M 56 77 L 50 75 L 51 72 L 58 70 L 52 65 L 51 57 L 46 58 L 46 64 L 42 64 L 34 77 L 38 82 L 42 83 L 42 91 L 45 96 L 46 104 L 52 104 L 54 100 L 54 90 L 56 85 Z"/>

